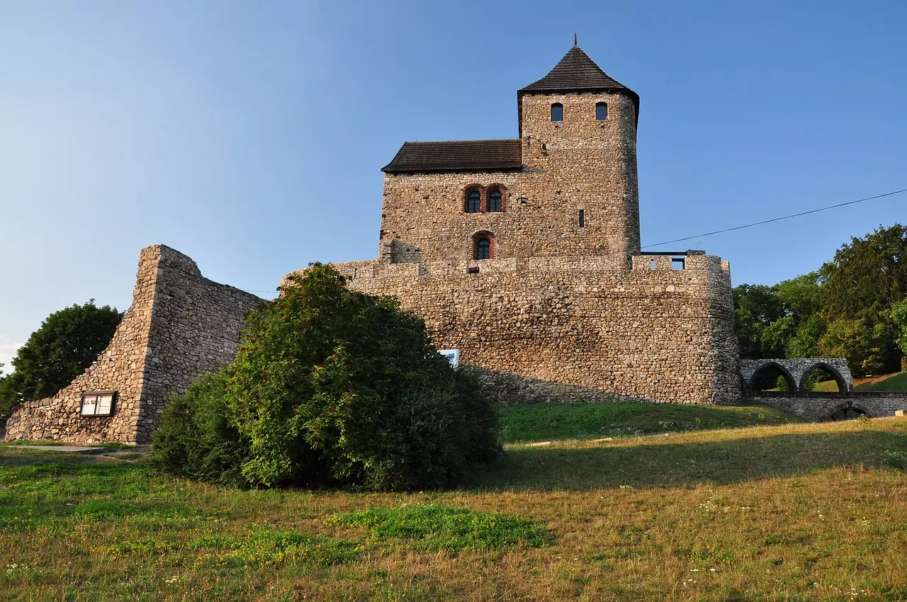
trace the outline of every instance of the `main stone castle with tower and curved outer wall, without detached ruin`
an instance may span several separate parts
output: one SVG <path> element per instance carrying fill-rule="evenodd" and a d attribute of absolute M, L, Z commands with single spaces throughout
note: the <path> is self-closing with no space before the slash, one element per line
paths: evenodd
<path fill-rule="evenodd" d="M 519 139 L 403 145 L 349 285 L 398 296 L 498 403 L 736 402 L 727 262 L 639 251 L 639 96 L 573 46 L 517 101 Z"/>

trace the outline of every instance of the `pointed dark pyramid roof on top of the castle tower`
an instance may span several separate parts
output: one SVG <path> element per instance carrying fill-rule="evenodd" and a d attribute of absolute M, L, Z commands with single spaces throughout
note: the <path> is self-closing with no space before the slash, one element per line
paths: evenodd
<path fill-rule="evenodd" d="M 601 71 L 601 67 L 595 64 L 588 54 L 582 52 L 580 46 L 573 46 L 547 75 L 538 82 L 530 83 L 522 90 L 518 90 L 516 95 L 519 100 L 523 94 L 554 92 L 625 93 L 633 100 L 636 106 L 636 119 L 639 121 L 639 94 Z"/>

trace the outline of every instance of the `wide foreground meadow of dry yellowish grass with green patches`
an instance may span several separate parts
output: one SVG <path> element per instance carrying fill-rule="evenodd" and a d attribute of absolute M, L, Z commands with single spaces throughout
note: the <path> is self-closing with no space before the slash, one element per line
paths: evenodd
<path fill-rule="evenodd" d="M 547 432 L 520 413 L 512 437 L 615 423 L 590 412 Z M 473 487 L 413 494 L 221 490 L 2 446 L 0 597 L 907 599 L 907 420 L 735 425 L 508 444 Z"/>

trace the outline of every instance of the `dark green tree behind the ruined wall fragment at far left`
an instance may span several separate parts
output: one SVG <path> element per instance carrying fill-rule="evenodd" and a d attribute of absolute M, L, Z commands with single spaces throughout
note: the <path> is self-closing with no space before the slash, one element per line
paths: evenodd
<path fill-rule="evenodd" d="M 0 381 L 0 416 L 28 400 L 53 395 L 82 374 L 110 344 L 122 313 L 94 299 L 44 319 L 13 359 L 15 372 Z"/>

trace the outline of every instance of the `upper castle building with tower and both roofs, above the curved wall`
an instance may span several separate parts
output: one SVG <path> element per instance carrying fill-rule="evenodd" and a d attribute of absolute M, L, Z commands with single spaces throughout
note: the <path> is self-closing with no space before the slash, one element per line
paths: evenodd
<path fill-rule="evenodd" d="M 406 142 L 387 164 L 390 263 L 639 253 L 639 96 L 579 46 L 517 92 L 520 137 Z"/>

